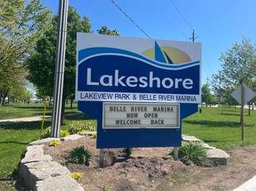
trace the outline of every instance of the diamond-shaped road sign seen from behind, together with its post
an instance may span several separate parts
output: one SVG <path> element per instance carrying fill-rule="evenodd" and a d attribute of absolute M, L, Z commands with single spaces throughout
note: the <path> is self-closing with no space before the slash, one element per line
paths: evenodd
<path fill-rule="evenodd" d="M 241 138 L 242 141 L 244 141 L 244 104 L 250 101 L 252 98 L 254 98 L 256 95 L 255 92 L 253 92 L 250 88 L 247 87 L 247 85 L 244 85 L 244 83 L 241 83 L 237 89 L 235 89 L 231 96 L 241 104 L 241 112 L 240 112 L 240 118 L 241 118 Z"/>

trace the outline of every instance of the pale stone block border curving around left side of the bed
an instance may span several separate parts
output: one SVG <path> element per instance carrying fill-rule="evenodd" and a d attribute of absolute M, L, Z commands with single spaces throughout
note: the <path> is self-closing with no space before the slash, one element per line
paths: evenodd
<path fill-rule="evenodd" d="M 84 136 L 74 134 L 63 138 L 46 138 L 33 141 L 27 146 L 25 157 L 19 164 L 19 175 L 30 190 L 35 191 L 82 191 L 76 180 L 70 177 L 69 169 L 63 167 L 48 154 L 43 153 L 43 146 L 52 140 L 68 141 Z"/>

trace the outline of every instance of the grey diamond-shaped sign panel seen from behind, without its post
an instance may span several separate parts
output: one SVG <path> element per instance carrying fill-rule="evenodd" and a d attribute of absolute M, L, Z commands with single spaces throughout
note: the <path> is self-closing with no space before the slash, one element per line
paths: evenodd
<path fill-rule="evenodd" d="M 244 86 L 244 103 L 247 103 L 250 101 L 252 98 L 256 96 L 256 93 L 252 91 L 250 88 L 247 87 L 247 85 Z M 238 102 L 242 103 L 241 98 L 242 98 L 242 85 L 239 85 L 236 90 L 234 90 L 231 93 L 231 96 Z"/>

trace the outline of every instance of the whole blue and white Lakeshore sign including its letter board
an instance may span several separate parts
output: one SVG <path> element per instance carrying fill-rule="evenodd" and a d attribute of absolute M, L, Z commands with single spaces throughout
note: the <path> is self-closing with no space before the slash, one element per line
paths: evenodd
<path fill-rule="evenodd" d="M 97 148 L 180 146 L 200 58 L 200 43 L 78 33 L 76 101 L 97 119 Z"/>

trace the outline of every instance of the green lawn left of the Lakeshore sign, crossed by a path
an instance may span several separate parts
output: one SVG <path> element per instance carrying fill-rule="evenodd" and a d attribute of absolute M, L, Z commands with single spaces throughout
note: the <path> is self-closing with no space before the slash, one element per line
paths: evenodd
<path fill-rule="evenodd" d="M 6 113 L 5 113 L 6 111 Z M 43 104 L 13 104 L 0 107 L 1 118 L 19 118 L 27 116 L 41 116 Z M 47 115 L 51 114 L 48 108 Z M 4 117 L 3 117 L 4 116 Z M 67 129 L 72 121 L 91 121 L 88 116 L 77 112 L 76 105 L 73 109 L 66 107 L 64 125 Z M 50 119 L 46 119 L 45 127 L 50 126 Z M 18 167 L 27 144 L 40 138 L 41 121 L 21 122 L 17 124 L 0 124 L 0 184 L 1 178 L 12 176 Z M 0 187 L 1 188 L 1 187 Z M 0 189 L 1 190 L 1 189 Z"/>

